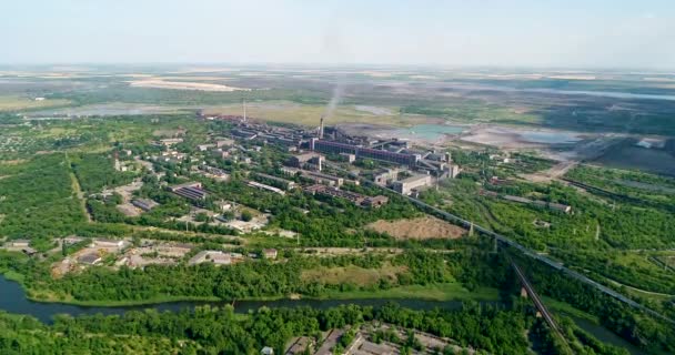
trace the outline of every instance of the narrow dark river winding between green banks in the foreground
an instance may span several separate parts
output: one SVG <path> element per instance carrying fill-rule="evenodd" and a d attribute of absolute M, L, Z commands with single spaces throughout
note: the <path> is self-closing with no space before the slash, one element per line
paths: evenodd
<path fill-rule="evenodd" d="M 234 303 L 234 312 L 246 313 L 258 310 L 262 306 L 266 307 L 300 307 L 310 306 L 312 308 L 325 310 L 336 307 L 343 304 L 356 304 L 362 306 L 382 306 L 387 302 L 396 302 L 401 306 L 412 310 L 457 310 L 462 306 L 462 302 L 440 302 L 426 300 L 389 300 L 389 298 L 369 298 L 369 300 L 278 300 L 278 301 L 239 301 Z M 41 303 L 33 302 L 26 297 L 26 292 L 18 283 L 4 278 L 0 275 L 0 310 L 16 314 L 28 314 L 40 320 L 43 323 L 50 324 L 52 317 L 58 314 L 78 315 L 122 315 L 128 311 L 143 311 L 148 308 L 159 312 L 172 311 L 178 312 L 184 308 L 194 308 L 195 306 L 212 305 L 225 306 L 230 302 L 168 302 L 139 306 L 118 306 L 118 307 L 101 307 L 101 306 L 78 306 L 62 303 Z"/>

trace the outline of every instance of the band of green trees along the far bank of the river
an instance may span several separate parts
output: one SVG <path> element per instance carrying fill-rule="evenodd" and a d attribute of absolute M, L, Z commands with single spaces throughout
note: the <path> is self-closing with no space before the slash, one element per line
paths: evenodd
<path fill-rule="evenodd" d="M 0 255 L 0 272 L 12 271 L 24 275 L 23 285 L 36 300 L 43 301 L 110 301 L 142 302 L 149 300 L 255 300 L 280 298 L 292 294 L 310 297 L 326 297 L 335 292 L 375 292 L 397 286 L 429 285 L 442 291 L 443 284 L 459 280 L 469 290 L 478 285 L 498 286 L 503 282 L 501 261 L 490 255 L 437 254 L 431 252 L 409 252 L 386 258 L 396 268 L 387 277 L 361 282 L 334 283 L 331 280 L 303 277 L 303 271 L 331 267 L 381 268 L 383 255 L 335 256 L 315 258 L 293 255 L 288 260 L 272 263 L 266 260 L 245 262 L 228 267 L 211 264 L 195 266 L 157 266 L 144 270 L 122 267 L 111 271 L 90 267 L 81 273 L 69 273 L 53 280 L 48 265 L 32 263 L 16 254 Z M 478 266 L 466 267 L 469 260 Z M 372 282 L 371 282 L 372 281 Z M 455 286 L 455 291 L 460 291 Z M 392 291 L 395 292 L 395 291 Z"/>

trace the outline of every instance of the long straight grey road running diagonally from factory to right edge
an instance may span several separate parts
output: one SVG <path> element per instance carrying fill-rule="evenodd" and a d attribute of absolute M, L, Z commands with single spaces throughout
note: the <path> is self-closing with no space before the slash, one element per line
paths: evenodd
<path fill-rule="evenodd" d="M 373 186 L 386 190 L 386 191 L 389 191 L 391 193 L 395 193 L 395 194 L 397 194 L 400 196 L 403 196 L 403 197 L 407 199 L 409 201 L 411 201 L 413 204 L 415 204 L 415 205 L 422 207 L 423 210 L 425 210 L 427 213 L 434 214 L 436 216 L 440 216 L 440 217 L 442 217 L 442 219 L 444 219 L 446 221 L 450 221 L 452 223 L 461 225 L 461 226 L 463 226 L 465 229 L 470 229 L 472 226 L 472 224 L 473 224 L 470 221 L 466 221 L 466 220 L 464 220 L 464 219 L 462 219 L 460 216 L 456 216 L 454 214 L 447 213 L 447 212 L 445 212 L 445 211 L 443 211 L 441 209 L 434 207 L 434 206 L 432 206 L 430 204 L 426 204 L 426 203 L 424 203 L 424 202 L 422 202 L 422 201 L 420 201 L 417 199 L 414 199 L 414 197 L 401 194 L 401 193 L 399 193 L 399 192 L 396 192 L 396 191 L 394 191 L 392 189 L 389 189 L 389 187 L 380 186 L 380 185 L 373 183 L 372 181 L 369 181 L 369 180 L 365 180 L 365 179 L 362 179 L 362 178 L 359 178 L 359 176 L 354 176 L 349 171 L 346 171 L 346 170 L 344 170 L 344 169 L 342 169 L 342 168 L 340 168 L 340 166 L 338 166 L 335 164 L 326 164 L 326 165 L 330 166 L 330 168 L 332 168 L 332 169 L 335 169 L 338 171 L 342 171 L 343 173 L 347 173 L 349 175 L 351 175 L 353 178 L 359 179 L 363 184 L 373 185 Z M 612 297 L 614 297 L 614 298 L 616 298 L 616 300 L 618 300 L 618 301 L 621 301 L 621 302 L 623 302 L 623 303 L 625 303 L 625 304 L 627 304 L 627 305 L 629 305 L 632 307 L 635 307 L 635 308 L 641 310 L 641 311 L 643 311 L 645 313 L 648 313 L 648 314 L 651 314 L 651 315 L 653 315 L 653 316 L 655 316 L 655 317 L 657 317 L 659 320 L 663 320 L 663 321 L 669 322 L 672 324 L 675 324 L 675 321 L 673 321 L 673 320 L 664 316 L 663 314 L 661 314 L 661 313 L 658 313 L 656 311 L 653 311 L 651 308 L 647 308 L 644 305 L 642 305 L 642 304 L 639 304 L 639 303 L 637 303 L 637 302 L 635 302 L 635 301 L 633 301 L 633 300 L 631 300 L 631 298 L 628 298 L 628 297 L 619 294 L 618 292 L 616 292 L 616 291 L 614 291 L 614 290 L 612 290 L 612 288 L 609 288 L 609 287 L 607 287 L 605 285 L 602 285 L 602 284 L 600 284 L 600 283 L 597 283 L 597 282 L 595 282 L 595 281 L 586 277 L 585 275 L 582 275 L 582 274 L 580 274 L 580 273 L 577 273 L 577 272 L 575 272 L 573 270 L 570 270 L 570 268 L 565 267 L 563 264 L 561 264 L 558 262 L 555 262 L 555 261 L 553 261 L 553 260 L 551 260 L 551 258 L 548 258 L 548 257 L 546 257 L 544 255 L 540 255 L 540 254 L 537 254 L 537 253 L 528 250 L 524 245 L 522 245 L 522 244 L 520 244 L 520 243 L 517 243 L 517 242 L 515 242 L 515 241 L 513 241 L 513 240 L 511 240 L 511 239 L 508 239 L 508 237 L 506 237 L 504 235 L 497 234 L 495 232 L 492 232 L 492 231 L 490 231 L 490 230 L 487 230 L 485 227 L 482 227 L 480 225 L 476 225 L 476 224 L 473 224 L 473 229 L 474 229 L 474 232 L 478 232 L 478 233 L 482 233 L 483 235 L 487 235 L 490 237 L 493 237 L 497 242 L 500 242 L 500 243 L 502 243 L 504 245 L 508 245 L 508 246 L 517 250 L 523 255 L 532 257 L 532 258 L 534 258 L 536 261 L 540 261 L 540 262 L 542 262 L 542 263 L 544 263 L 544 264 L 546 264 L 546 265 L 548 265 L 548 266 L 551 266 L 551 267 L 553 267 L 553 268 L 555 268 L 557 271 L 561 271 L 564 274 L 566 274 L 567 276 L 576 278 L 577 281 L 581 281 L 581 282 L 583 282 L 583 283 L 585 283 L 587 285 L 591 285 L 591 286 L 595 287 L 596 290 L 598 290 L 600 292 L 602 292 L 602 293 L 604 293 L 606 295 L 609 295 L 609 296 L 612 296 Z"/>

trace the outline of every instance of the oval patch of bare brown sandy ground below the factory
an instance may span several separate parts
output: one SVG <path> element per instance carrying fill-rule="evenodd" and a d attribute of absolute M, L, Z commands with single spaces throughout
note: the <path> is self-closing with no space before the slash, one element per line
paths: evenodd
<path fill-rule="evenodd" d="M 386 233 L 397 240 L 413 239 L 457 239 L 464 230 L 434 217 L 420 217 L 414 220 L 377 221 L 367 225 L 367 229 Z"/>

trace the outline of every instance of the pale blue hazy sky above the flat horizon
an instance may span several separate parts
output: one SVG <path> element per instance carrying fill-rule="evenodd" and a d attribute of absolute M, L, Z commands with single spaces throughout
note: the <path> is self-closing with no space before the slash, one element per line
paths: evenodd
<path fill-rule="evenodd" d="M 675 1 L 2 0 L 0 63 L 675 69 Z"/>

